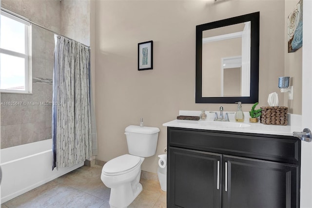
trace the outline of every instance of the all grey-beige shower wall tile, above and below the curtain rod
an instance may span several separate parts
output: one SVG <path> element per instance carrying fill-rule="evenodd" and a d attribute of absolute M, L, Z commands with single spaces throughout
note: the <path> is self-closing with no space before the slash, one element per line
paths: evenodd
<path fill-rule="evenodd" d="M 1 0 L 1 7 L 89 45 L 88 4 L 89 0 Z M 66 17 L 67 13 L 74 14 L 74 18 Z M 76 32 L 70 34 L 70 31 Z M 1 93 L 3 103 L 23 103 L 19 106 L 0 106 L 1 148 L 52 137 L 52 106 L 46 102 L 52 101 L 54 34 L 33 25 L 32 43 L 32 94 Z"/>

